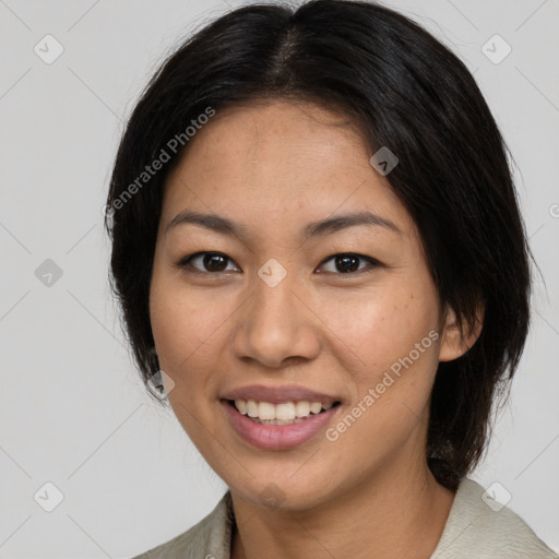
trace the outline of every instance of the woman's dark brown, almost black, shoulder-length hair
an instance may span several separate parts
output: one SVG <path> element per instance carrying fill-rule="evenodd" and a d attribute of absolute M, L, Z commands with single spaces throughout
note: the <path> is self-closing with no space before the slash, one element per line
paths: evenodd
<path fill-rule="evenodd" d="M 493 400 L 522 355 L 531 253 L 507 148 L 473 76 L 429 33 L 376 3 L 247 5 L 199 31 L 153 75 L 120 142 L 105 221 L 111 287 L 142 377 L 158 370 L 150 282 L 163 187 L 188 146 L 185 131 L 207 107 L 274 98 L 342 111 L 371 154 L 396 154 L 386 178 L 418 227 L 441 308 L 462 330 L 485 306 L 479 338 L 439 364 L 431 394 L 428 464 L 455 488 L 483 455 Z M 185 140 L 175 151 L 174 138 Z M 139 183 L 165 148 L 173 160 Z"/>

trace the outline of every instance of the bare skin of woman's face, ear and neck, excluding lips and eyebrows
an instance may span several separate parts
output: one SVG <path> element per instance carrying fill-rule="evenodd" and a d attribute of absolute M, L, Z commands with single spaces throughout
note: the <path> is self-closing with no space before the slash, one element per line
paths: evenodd
<path fill-rule="evenodd" d="M 274 100 L 217 111 L 169 175 L 155 249 L 150 312 L 170 405 L 231 490 L 231 557 L 429 557 L 454 495 L 426 462 L 428 403 L 439 360 L 462 355 L 411 216 L 347 118 Z M 165 231 L 181 211 L 228 217 L 241 237 L 192 224 Z M 359 225 L 304 240 L 309 222 L 369 210 L 401 230 Z M 225 261 L 204 267 L 199 251 Z M 341 253 L 358 271 L 337 265 Z M 258 275 L 271 258 L 287 275 Z M 197 274 L 197 270 L 199 273 Z M 217 271 L 212 271 L 217 270 Z M 223 270 L 223 271 L 219 271 Z M 333 424 L 429 332 L 440 337 L 354 425 L 289 450 L 261 450 L 229 425 L 219 395 L 249 384 L 299 384 L 342 401 Z M 332 427 L 330 425 L 329 427 Z M 266 507 L 273 481 L 283 500 Z"/>

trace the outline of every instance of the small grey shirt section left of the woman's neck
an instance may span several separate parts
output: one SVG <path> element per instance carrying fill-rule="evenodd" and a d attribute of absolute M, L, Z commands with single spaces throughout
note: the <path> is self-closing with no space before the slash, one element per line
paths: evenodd
<path fill-rule="evenodd" d="M 132 559 L 229 559 L 233 522 L 230 492 L 227 491 L 198 524 Z"/>

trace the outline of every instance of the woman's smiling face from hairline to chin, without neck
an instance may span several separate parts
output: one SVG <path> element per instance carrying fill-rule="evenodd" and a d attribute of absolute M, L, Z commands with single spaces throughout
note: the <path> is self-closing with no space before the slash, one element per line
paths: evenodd
<path fill-rule="evenodd" d="M 168 177 L 150 312 L 169 402 L 210 466 L 254 503 L 310 508 L 425 467 L 441 309 L 415 224 L 371 155 L 347 119 L 278 100 L 217 111 Z M 235 233 L 169 226 L 185 211 Z M 311 225 L 362 213 L 377 217 Z M 338 404 L 299 430 L 265 426 L 224 401 L 253 385 Z M 259 405 L 265 394 L 249 408 L 290 409 Z M 305 400 L 276 401 L 305 415 Z"/>

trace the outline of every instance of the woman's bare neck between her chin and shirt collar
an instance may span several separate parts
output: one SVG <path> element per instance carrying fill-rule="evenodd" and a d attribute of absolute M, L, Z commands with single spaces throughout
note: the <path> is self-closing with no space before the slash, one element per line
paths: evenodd
<path fill-rule="evenodd" d="M 231 490 L 238 526 L 231 559 L 365 559 L 371 551 L 384 559 L 430 557 L 454 492 L 436 481 L 427 464 L 415 472 L 393 468 L 305 510 L 270 510 Z"/>

